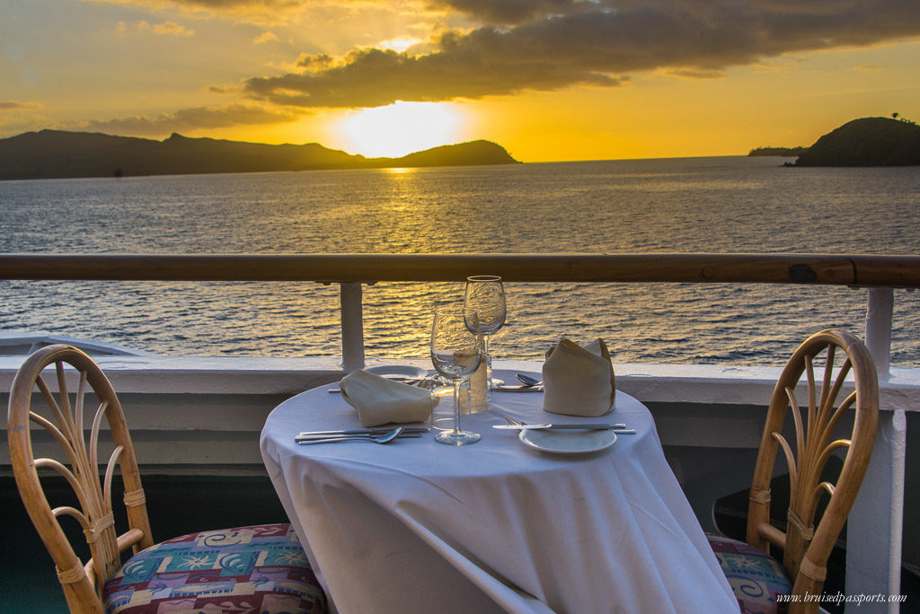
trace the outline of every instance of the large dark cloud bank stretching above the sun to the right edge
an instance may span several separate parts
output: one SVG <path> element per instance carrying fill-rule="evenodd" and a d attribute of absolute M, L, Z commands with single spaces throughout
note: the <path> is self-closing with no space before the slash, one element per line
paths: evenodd
<path fill-rule="evenodd" d="M 492 25 L 448 32 L 423 55 L 306 56 L 303 72 L 249 79 L 247 94 L 300 107 L 376 107 L 618 85 L 623 74 L 661 68 L 711 77 L 790 51 L 920 35 L 917 0 L 438 2 Z"/>

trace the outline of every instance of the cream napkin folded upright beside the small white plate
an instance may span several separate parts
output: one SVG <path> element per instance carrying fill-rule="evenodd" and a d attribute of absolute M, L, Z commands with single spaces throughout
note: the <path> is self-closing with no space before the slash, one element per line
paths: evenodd
<path fill-rule="evenodd" d="M 597 417 L 614 408 L 614 365 L 604 339 L 585 347 L 563 339 L 546 352 L 543 409 L 553 414 Z"/>

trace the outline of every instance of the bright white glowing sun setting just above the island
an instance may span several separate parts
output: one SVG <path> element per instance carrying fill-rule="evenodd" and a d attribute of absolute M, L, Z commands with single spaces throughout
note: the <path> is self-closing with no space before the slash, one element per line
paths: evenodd
<path fill-rule="evenodd" d="M 344 149 L 399 157 L 463 140 L 463 114 L 445 102 L 402 102 L 351 111 L 335 126 Z"/>

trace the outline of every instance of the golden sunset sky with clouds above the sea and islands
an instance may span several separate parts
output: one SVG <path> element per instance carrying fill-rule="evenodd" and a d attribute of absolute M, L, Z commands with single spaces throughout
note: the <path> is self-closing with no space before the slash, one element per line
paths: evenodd
<path fill-rule="evenodd" d="M 523 162 L 744 154 L 920 121 L 918 0 L 0 0 L 0 137 Z"/>

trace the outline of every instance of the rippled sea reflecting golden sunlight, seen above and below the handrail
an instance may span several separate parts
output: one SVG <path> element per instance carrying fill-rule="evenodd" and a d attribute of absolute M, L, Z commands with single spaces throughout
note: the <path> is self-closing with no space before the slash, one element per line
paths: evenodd
<path fill-rule="evenodd" d="M 920 254 L 920 167 L 715 157 L 416 170 L 0 182 L 0 252 Z M 482 271 L 489 273 L 489 271 Z M 866 290 L 510 284 L 497 358 L 601 336 L 615 360 L 780 364 L 865 328 Z M 369 358 L 427 356 L 459 284 L 364 288 Z M 5 330 L 160 354 L 339 355 L 337 286 L 0 281 Z M 920 365 L 920 293 L 895 290 L 892 364 Z"/>

